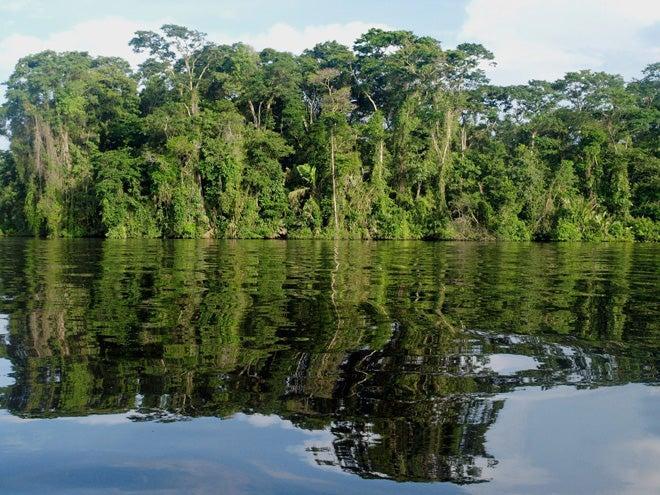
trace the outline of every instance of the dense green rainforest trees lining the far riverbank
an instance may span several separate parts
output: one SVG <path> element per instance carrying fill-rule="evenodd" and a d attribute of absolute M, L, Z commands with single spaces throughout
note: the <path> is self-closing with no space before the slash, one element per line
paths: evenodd
<path fill-rule="evenodd" d="M 372 29 L 293 55 L 165 25 L 6 83 L 0 231 L 50 237 L 660 238 L 660 64 L 490 85 L 493 54 Z"/>

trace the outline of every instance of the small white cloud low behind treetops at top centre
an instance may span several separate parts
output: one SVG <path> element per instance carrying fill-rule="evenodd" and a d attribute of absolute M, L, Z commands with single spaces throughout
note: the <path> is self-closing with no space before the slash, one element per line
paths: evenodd
<path fill-rule="evenodd" d="M 256 49 L 274 48 L 281 51 L 300 53 L 306 48 L 312 48 L 323 41 L 334 40 L 349 47 L 353 46 L 353 42 L 371 28 L 391 29 L 385 24 L 361 21 L 306 26 L 302 29 L 284 23 L 277 23 L 263 33 L 245 34 L 238 37 L 229 37 L 218 33 L 212 38 L 219 43 L 243 41 Z"/>

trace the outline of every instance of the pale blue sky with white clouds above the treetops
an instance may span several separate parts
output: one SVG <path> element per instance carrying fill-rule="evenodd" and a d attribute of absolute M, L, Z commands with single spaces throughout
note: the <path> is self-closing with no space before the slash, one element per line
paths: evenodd
<path fill-rule="evenodd" d="M 372 26 L 432 35 L 447 47 L 476 41 L 495 52 L 489 75 L 501 84 L 581 68 L 630 79 L 660 60 L 657 0 L 0 0 L 0 80 L 43 49 L 139 62 L 131 33 L 165 22 L 213 41 L 294 52 L 325 39 L 350 44 Z"/>

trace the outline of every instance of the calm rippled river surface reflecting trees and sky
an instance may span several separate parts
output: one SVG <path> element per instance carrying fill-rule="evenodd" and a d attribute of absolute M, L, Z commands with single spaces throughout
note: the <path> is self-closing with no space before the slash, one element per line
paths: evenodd
<path fill-rule="evenodd" d="M 2 493 L 658 493 L 660 247 L 0 239 Z"/>

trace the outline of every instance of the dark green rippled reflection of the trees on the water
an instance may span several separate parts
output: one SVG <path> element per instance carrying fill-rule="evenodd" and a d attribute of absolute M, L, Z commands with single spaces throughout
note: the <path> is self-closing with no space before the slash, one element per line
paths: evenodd
<path fill-rule="evenodd" d="M 331 433 L 305 447 L 319 465 L 485 481 L 501 393 L 657 381 L 656 252 L 5 240 L 0 405 L 21 417 L 277 415 Z"/>

